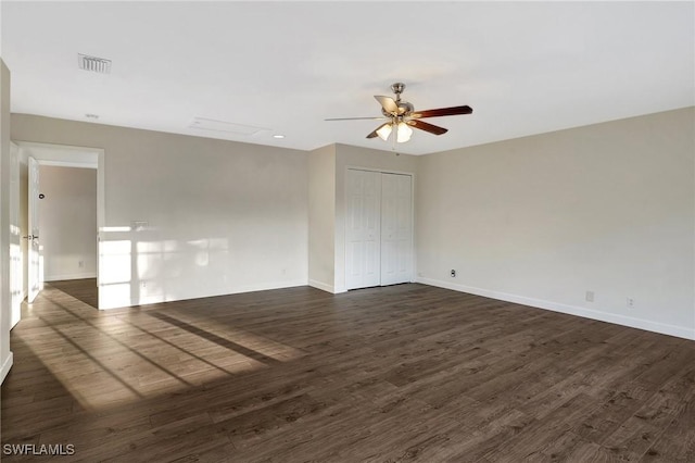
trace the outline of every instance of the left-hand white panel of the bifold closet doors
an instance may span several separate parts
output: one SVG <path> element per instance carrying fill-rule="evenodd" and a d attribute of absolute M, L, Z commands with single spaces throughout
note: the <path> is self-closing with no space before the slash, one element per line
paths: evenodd
<path fill-rule="evenodd" d="M 381 174 L 348 170 L 345 211 L 345 287 L 381 284 Z"/>

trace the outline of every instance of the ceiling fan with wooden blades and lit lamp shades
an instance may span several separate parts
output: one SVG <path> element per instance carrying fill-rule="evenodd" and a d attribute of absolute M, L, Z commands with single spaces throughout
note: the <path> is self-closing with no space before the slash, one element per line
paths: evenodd
<path fill-rule="evenodd" d="M 372 133 L 367 135 L 367 138 L 379 137 L 387 141 L 389 136 L 394 133 L 394 143 L 403 143 L 410 139 L 413 129 L 410 127 L 419 128 L 420 130 L 429 132 L 434 135 L 442 135 L 448 132 L 444 127 L 429 124 L 425 121 L 420 121 L 425 117 L 442 117 L 459 114 L 471 114 L 472 108 L 468 105 L 452 107 L 452 108 L 439 108 L 435 110 L 415 111 L 413 104 L 407 101 L 401 100 L 401 93 L 405 89 L 405 84 L 396 82 L 391 86 L 391 90 L 395 93 L 395 100 L 391 97 L 382 97 L 375 95 L 374 98 L 381 104 L 382 117 L 337 117 L 327 118 L 326 121 L 357 121 L 357 120 L 374 120 L 374 121 L 387 121 L 376 128 Z M 395 128 L 395 130 L 394 130 Z"/>

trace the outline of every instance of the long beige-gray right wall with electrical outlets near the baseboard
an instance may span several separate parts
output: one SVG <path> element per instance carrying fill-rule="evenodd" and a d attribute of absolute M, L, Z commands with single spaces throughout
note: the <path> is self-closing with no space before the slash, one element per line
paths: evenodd
<path fill-rule="evenodd" d="M 419 158 L 418 280 L 695 339 L 694 115 Z"/>

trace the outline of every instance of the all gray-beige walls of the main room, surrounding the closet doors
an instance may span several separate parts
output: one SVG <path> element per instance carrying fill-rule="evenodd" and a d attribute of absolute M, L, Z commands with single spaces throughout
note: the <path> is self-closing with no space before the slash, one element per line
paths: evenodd
<path fill-rule="evenodd" d="M 419 281 L 695 338 L 694 112 L 426 157 L 27 115 L 13 138 L 105 148 L 101 292 L 118 305 L 306 283 L 341 292 L 354 166 L 415 174 Z M 117 232 L 134 221 L 148 227 Z"/>

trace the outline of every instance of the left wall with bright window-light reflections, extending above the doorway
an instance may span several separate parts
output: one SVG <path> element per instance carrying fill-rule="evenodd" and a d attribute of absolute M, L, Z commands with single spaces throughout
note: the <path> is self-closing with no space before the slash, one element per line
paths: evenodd
<path fill-rule="evenodd" d="M 15 140 L 104 149 L 101 309 L 306 285 L 306 152 L 12 117 Z"/>

